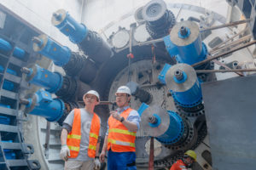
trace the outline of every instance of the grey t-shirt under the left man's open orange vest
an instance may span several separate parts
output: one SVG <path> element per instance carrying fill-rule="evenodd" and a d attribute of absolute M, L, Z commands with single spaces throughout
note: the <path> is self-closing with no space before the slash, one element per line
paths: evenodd
<path fill-rule="evenodd" d="M 92 120 L 93 114 L 90 114 L 88 111 L 86 111 L 84 108 L 80 109 L 81 112 L 81 141 L 80 141 L 80 150 L 79 150 L 79 156 L 76 158 L 69 158 L 73 161 L 89 161 L 93 158 L 90 158 L 87 155 L 88 145 L 89 145 L 89 133 L 90 133 L 90 122 Z M 68 124 L 70 127 L 73 126 L 73 116 L 74 111 L 71 111 L 65 121 L 63 122 L 63 127 L 66 128 Z M 71 129 L 68 129 L 68 133 L 71 131 Z M 101 130 L 99 135 L 101 134 Z"/>

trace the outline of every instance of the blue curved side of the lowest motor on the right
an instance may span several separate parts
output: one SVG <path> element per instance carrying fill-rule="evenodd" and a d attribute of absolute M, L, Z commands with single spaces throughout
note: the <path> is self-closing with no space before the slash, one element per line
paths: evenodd
<path fill-rule="evenodd" d="M 182 138 L 184 133 L 184 122 L 176 112 L 167 111 L 170 116 L 170 124 L 166 133 L 155 138 L 163 144 L 174 144 Z"/>

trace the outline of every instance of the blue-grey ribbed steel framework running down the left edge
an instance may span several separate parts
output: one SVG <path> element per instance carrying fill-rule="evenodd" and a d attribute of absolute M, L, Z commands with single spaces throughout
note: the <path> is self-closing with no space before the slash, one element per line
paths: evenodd
<path fill-rule="evenodd" d="M 6 15 L 3 29 L 0 31 L 0 38 L 9 42 L 13 47 L 10 51 L 0 49 L 0 65 L 3 68 L 0 72 L 0 169 L 36 170 L 40 169 L 41 166 L 37 160 L 28 160 L 34 149 L 31 144 L 25 144 L 23 141 L 23 134 L 20 130 L 22 129 L 22 122 L 20 122 L 22 117 L 20 119 L 19 112 L 20 83 L 22 82 L 20 68 L 26 65 L 32 51 L 29 48 L 30 43 L 26 45 L 20 43 L 19 37 L 21 35 L 18 36 L 17 32 L 16 34 L 13 32 L 14 28 L 8 27 L 13 26 L 10 25 L 10 22 L 21 26 L 20 22 L 2 10 L 1 6 L 0 12 L 2 15 Z M 32 30 L 27 28 L 26 31 Z M 20 34 L 22 32 L 20 31 Z M 12 37 L 14 34 L 16 35 L 15 38 Z M 32 32 L 32 35 L 34 34 L 35 32 Z M 13 56 L 14 47 L 19 47 L 26 51 L 23 58 L 18 59 Z M 8 70 L 14 71 L 15 74 L 10 74 Z M 9 82 L 8 88 L 4 88 L 4 83 L 6 82 Z"/>

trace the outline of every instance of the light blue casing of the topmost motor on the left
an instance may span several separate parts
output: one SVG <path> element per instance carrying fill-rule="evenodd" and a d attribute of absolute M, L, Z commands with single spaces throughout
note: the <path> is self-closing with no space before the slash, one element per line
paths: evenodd
<path fill-rule="evenodd" d="M 56 26 L 63 34 L 69 37 L 69 40 L 73 43 L 79 43 L 84 40 L 88 34 L 87 27 L 83 24 L 79 24 L 73 19 L 70 14 L 66 14 L 66 18 L 61 22 L 61 24 Z"/>

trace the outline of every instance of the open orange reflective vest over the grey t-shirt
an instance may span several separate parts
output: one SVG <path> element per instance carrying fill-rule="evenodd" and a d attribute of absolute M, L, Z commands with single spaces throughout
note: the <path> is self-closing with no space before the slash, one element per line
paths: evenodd
<path fill-rule="evenodd" d="M 88 156 L 94 158 L 96 156 L 96 144 L 100 133 L 100 118 L 93 113 L 92 120 L 90 122 L 90 136 L 88 146 Z M 73 127 L 70 133 L 67 135 L 67 146 L 70 150 L 69 157 L 79 156 L 81 141 L 81 112 L 79 109 L 74 109 Z"/>

